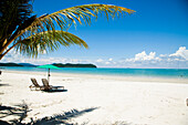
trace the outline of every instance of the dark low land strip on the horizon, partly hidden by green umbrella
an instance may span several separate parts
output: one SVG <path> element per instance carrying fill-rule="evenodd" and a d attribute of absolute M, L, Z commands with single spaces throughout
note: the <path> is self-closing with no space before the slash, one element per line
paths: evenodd
<path fill-rule="evenodd" d="M 94 65 L 94 64 L 53 63 L 52 65 L 55 65 L 59 67 L 95 67 L 96 69 L 96 65 Z M 32 67 L 35 67 L 39 65 L 34 65 L 31 63 L 0 63 L 0 66 L 32 66 Z"/>

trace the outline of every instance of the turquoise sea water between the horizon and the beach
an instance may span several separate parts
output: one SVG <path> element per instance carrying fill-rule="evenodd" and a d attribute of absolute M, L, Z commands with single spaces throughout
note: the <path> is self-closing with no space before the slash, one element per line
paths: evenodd
<path fill-rule="evenodd" d="M 2 67 L 8 71 L 29 71 L 46 72 L 46 69 L 38 67 Z M 61 67 L 51 70 L 54 73 L 79 73 L 79 74 L 97 74 L 97 75 L 118 75 L 118 76 L 156 76 L 156 77 L 182 77 L 188 79 L 188 69 L 87 69 L 87 67 Z"/>

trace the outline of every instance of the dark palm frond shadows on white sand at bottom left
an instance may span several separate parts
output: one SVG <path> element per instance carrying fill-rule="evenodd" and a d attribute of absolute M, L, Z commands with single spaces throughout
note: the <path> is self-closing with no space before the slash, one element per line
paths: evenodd
<path fill-rule="evenodd" d="M 73 125 L 70 123 L 71 118 L 75 118 L 84 115 L 85 113 L 93 112 L 98 107 L 85 108 L 82 111 L 71 110 L 69 112 L 64 112 L 63 114 L 58 114 L 53 116 L 46 116 L 36 121 L 31 118 L 30 123 L 22 123 L 22 121 L 27 117 L 28 112 L 30 112 L 28 105 L 23 102 L 23 104 L 11 106 L 2 106 L 0 105 L 0 125 Z M 17 116 L 19 118 L 12 121 L 2 121 L 2 118 L 8 117 L 10 115 Z"/>

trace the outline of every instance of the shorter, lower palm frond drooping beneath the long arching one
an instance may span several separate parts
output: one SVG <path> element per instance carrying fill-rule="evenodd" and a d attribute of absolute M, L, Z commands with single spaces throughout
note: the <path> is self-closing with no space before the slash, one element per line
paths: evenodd
<path fill-rule="evenodd" d="M 19 41 L 19 40 L 15 40 Z M 76 44 L 87 48 L 87 44 L 79 37 L 66 31 L 45 31 L 35 33 L 18 43 L 15 50 L 22 54 L 36 58 L 39 53 L 58 50 L 60 45 L 70 46 Z"/>

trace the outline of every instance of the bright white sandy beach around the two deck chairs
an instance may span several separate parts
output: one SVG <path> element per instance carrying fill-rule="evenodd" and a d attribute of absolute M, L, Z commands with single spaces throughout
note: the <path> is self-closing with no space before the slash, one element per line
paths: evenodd
<path fill-rule="evenodd" d="M 46 93 L 30 91 L 30 77 L 42 85 L 41 79 L 46 73 L 3 71 L 0 75 L 0 103 L 14 106 L 24 102 L 29 106 L 23 123 L 31 117 L 35 121 L 77 110 L 81 115 L 64 121 L 97 125 L 188 125 L 188 80 L 185 79 L 52 73 L 50 84 L 63 85 L 67 92 Z M 84 113 L 90 108 L 93 110 Z M 13 118 L 10 115 L 1 119 Z"/>

